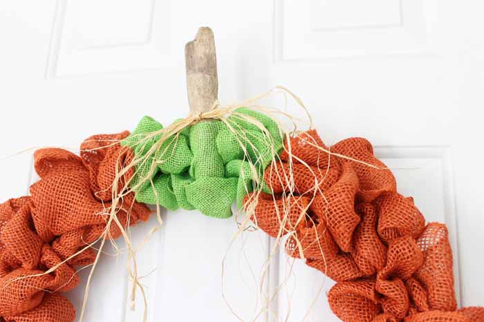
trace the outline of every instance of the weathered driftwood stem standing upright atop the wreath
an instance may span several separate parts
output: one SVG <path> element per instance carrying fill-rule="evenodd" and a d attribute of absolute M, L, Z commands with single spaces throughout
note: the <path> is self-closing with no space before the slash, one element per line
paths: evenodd
<path fill-rule="evenodd" d="M 195 39 L 187 43 L 185 66 L 190 112 L 207 112 L 218 98 L 217 59 L 212 29 L 201 27 Z"/>

